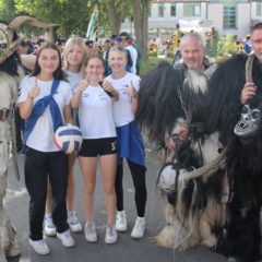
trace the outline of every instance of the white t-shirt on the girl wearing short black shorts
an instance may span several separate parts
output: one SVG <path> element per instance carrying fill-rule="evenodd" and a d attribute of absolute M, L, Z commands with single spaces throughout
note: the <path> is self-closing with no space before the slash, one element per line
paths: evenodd
<path fill-rule="evenodd" d="M 79 104 L 80 129 L 84 139 L 117 136 L 112 99 L 102 86 L 87 86 Z"/>

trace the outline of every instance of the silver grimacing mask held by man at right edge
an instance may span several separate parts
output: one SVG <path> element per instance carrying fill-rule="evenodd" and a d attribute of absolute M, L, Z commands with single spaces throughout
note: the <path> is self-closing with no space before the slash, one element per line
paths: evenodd
<path fill-rule="evenodd" d="M 241 118 L 234 129 L 234 133 L 240 139 L 252 138 L 260 128 L 262 112 L 259 108 L 250 108 L 245 105 L 241 112 Z"/>

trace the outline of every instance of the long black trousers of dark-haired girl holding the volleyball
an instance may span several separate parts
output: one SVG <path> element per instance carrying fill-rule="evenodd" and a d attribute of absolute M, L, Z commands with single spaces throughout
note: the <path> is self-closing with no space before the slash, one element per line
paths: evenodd
<path fill-rule="evenodd" d="M 25 158 L 25 186 L 29 194 L 29 237 L 43 239 L 43 221 L 49 178 L 52 191 L 52 219 L 58 233 L 66 231 L 68 156 L 62 152 L 39 152 L 28 148 Z"/>

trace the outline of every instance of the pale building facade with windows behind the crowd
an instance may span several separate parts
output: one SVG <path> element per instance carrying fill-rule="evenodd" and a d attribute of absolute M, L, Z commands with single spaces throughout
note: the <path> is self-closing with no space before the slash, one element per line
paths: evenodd
<path fill-rule="evenodd" d="M 184 32 L 205 32 L 212 25 L 221 35 L 243 38 L 253 24 L 262 21 L 262 0 L 155 0 L 151 5 L 148 33 L 171 35 L 179 23 Z M 122 29 L 132 29 L 124 23 Z"/>

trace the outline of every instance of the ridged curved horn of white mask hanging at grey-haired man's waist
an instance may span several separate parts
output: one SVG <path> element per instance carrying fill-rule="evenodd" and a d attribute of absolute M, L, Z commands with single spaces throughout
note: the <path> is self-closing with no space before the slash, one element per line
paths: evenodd
<path fill-rule="evenodd" d="M 207 165 L 205 165 L 203 167 L 196 168 L 193 171 L 186 172 L 183 176 L 180 176 L 179 178 L 183 179 L 183 180 L 190 180 L 190 179 L 194 179 L 194 178 L 201 177 L 203 175 L 210 176 L 211 174 L 217 171 L 222 167 L 221 164 L 224 164 L 225 155 L 226 155 L 226 147 L 210 164 L 207 164 Z"/>

